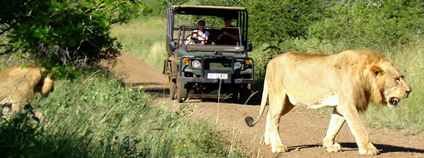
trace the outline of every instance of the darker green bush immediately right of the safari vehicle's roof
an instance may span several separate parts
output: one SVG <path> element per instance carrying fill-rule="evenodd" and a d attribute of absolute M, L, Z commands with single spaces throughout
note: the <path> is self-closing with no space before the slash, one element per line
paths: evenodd
<path fill-rule="evenodd" d="M 247 1 L 249 40 L 283 41 L 304 37 L 309 25 L 322 18 L 324 8 L 317 1 Z"/>

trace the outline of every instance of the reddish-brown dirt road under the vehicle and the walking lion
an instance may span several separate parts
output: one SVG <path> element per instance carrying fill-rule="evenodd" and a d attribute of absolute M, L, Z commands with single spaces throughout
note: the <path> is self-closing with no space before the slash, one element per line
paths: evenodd
<path fill-rule="evenodd" d="M 168 99 L 167 76 L 160 70 L 151 68 L 141 59 L 131 54 L 122 54 L 117 66 L 117 75 L 134 87 L 143 86 L 151 93 L 153 102 L 166 102 L 171 109 L 180 104 Z M 283 144 L 289 152 L 271 153 L 271 149 L 261 142 L 265 129 L 264 117 L 257 126 L 249 128 L 244 123 L 245 116 L 257 118 L 259 106 L 200 102 L 192 100 L 189 104 L 194 112 L 189 119 L 205 120 L 223 131 L 228 140 L 241 145 L 246 154 L 259 157 L 370 157 L 358 153 L 355 139 L 348 127 L 343 126 L 336 137 L 342 147 L 341 152 L 327 153 L 321 147 L 330 116 L 314 110 L 295 108 L 281 118 L 280 133 Z M 405 135 L 401 130 L 368 128 L 370 140 L 381 154 L 375 157 L 424 157 L 424 135 Z"/>

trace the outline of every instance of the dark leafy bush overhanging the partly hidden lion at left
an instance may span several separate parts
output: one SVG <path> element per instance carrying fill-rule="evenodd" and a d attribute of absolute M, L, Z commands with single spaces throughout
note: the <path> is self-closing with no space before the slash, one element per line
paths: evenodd
<path fill-rule="evenodd" d="M 124 23 L 144 8 L 139 1 L 1 1 L 0 32 L 7 40 L 0 54 L 54 66 L 93 65 L 114 59 L 120 45 L 110 25 Z M 7 5 L 6 5 L 7 4 Z M 64 69 L 63 71 L 68 71 Z"/>

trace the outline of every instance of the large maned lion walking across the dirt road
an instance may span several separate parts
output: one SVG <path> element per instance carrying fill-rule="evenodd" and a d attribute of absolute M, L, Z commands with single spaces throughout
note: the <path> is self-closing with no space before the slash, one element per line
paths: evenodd
<path fill-rule="evenodd" d="M 287 147 L 281 143 L 278 131 L 281 116 L 298 105 L 312 109 L 333 107 L 329 129 L 322 143 L 326 152 L 341 150 L 334 138 L 346 121 L 359 153 L 378 154 L 358 111 L 365 111 L 370 101 L 396 107 L 409 92 L 411 87 L 404 75 L 379 53 L 355 50 L 334 55 L 288 52 L 268 63 L 258 120 L 269 98 L 264 142 L 271 144 L 272 152 L 285 152 Z M 257 123 L 249 116 L 246 122 L 251 127 Z"/>

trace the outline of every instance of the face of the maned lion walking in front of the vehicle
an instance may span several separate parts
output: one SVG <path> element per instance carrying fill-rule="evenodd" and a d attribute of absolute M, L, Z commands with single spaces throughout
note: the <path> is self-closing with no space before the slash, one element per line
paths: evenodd
<path fill-rule="evenodd" d="M 408 97 L 411 87 L 404 80 L 404 75 L 390 61 L 384 61 L 379 67 L 381 70 L 376 78 L 382 90 L 382 102 L 394 108 L 401 99 Z"/>

